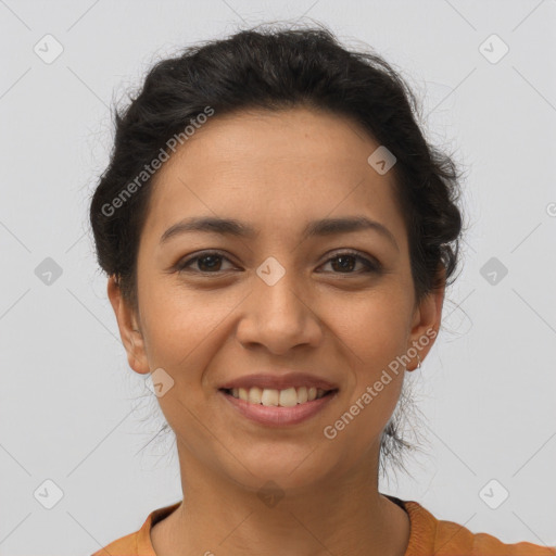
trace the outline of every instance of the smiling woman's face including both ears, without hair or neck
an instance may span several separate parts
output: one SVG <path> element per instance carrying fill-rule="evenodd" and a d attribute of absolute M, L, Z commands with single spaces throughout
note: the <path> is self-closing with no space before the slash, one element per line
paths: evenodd
<path fill-rule="evenodd" d="M 426 338 L 425 358 L 442 307 L 442 292 L 415 305 L 393 172 L 367 162 L 378 147 L 328 113 L 216 113 L 159 170 L 138 254 L 138 314 L 112 279 L 109 294 L 130 366 L 159 369 L 182 466 L 253 489 L 375 468 L 404 378 L 400 359 L 392 370 L 396 357 Z M 238 226 L 165 236 L 192 218 Z M 340 218 L 377 224 L 323 223 Z M 410 355 L 402 361 L 414 369 Z M 332 393 L 294 408 L 255 406 L 222 390 L 240 379 L 252 401 L 304 402 L 318 381 Z"/>

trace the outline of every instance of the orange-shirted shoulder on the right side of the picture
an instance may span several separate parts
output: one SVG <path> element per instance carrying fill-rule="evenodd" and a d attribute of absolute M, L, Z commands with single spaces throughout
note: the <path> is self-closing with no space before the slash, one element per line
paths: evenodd
<path fill-rule="evenodd" d="M 402 502 L 412 528 L 406 556 L 556 556 L 556 546 L 504 543 L 491 534 L 471 532 L 454 521 L 437 519 L 417 502 Z"/>

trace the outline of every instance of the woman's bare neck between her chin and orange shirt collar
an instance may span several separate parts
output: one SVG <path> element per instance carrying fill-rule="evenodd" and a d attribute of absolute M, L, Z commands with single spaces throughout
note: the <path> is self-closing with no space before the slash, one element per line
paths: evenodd
<path fill-rule="evenodd" d="M 378 492 L 377 465 L 368 460 L 349 476 L 275 495 L 271 486 L 248 489 L 188 456 L 179 458 L 184 503 L 151 531 L 157 556 L 239 556 L 245 547 L 274 556 L 405 554 L 408 516 Z"/>

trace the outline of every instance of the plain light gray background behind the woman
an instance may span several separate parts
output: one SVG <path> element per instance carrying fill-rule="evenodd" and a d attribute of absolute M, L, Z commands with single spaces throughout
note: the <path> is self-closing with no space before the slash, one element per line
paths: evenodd
<path fill-rule="evenodd" d="M 468 167 L 465 265 L 407 378 L 427 452 L 381 491 L 505 542 L 556 544 L 555 0 L 0 0 L 0 555 L 90 554 L 181 500 L 88 232 L 113 99 L 181 46 L 311 18 L 394 64 L 428 138 Z M 64 49 L 50 64 L 34 51 L 47 34 Z M 480 50 L 492 34 L 509 47 L 496 63 Z M 62 270 L 50 283 L 47 257 Z"/>

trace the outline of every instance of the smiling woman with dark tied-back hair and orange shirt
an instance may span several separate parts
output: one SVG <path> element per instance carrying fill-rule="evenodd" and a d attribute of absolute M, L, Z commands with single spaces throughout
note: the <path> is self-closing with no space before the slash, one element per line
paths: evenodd
<path fill-rule="evenodd" d="M 160 62 L 117 116 L 91 224 L 184 500 L 96 556 L 556 554 L 378 491 L 463 227 L 414 108 L 327 29 L 252 29 Z"/>

